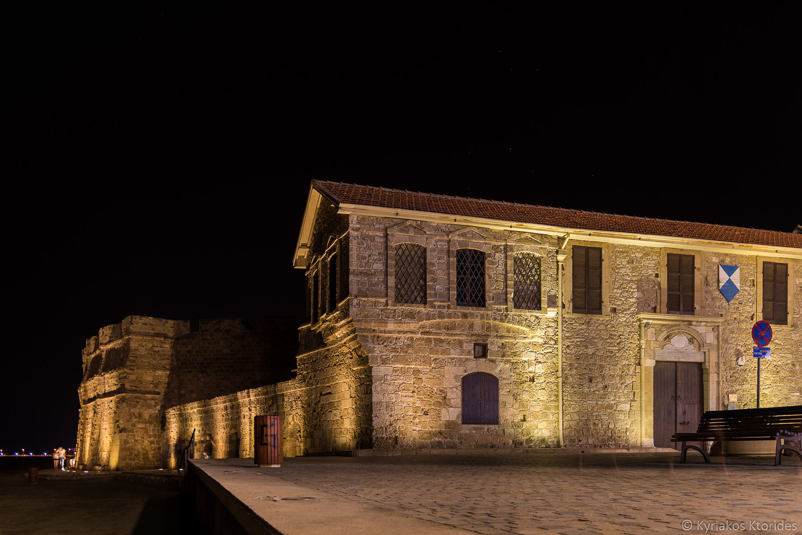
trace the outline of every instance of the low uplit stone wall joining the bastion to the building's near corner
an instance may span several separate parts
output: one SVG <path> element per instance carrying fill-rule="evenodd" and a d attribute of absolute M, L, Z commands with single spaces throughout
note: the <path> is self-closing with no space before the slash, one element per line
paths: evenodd
<path fill-rule="evenodd" d="M 196 433 L 215 443 L 214 457 L 253 457 L 253 417 L 282 416 L 283 453 L 297 457 L 371 448 L 371 384 L 348 301 L 327 313 L 318 328 L 323 345 L 298 355 L 298 376 L 168 408 L 167 440 L 175 450 Z M 302 329 L 309 329 L 306 325 Z M 196 456 L 200 456 L 200 449 Z M 177 455 L 172 461 L 175 465 Z"/>

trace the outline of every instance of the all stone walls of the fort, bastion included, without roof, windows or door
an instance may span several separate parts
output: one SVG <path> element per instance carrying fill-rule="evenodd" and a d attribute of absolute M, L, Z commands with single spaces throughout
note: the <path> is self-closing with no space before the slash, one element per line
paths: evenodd
<path fill-rule="evenodd" d="M 367 448 L 651 446 L 653 370 L 661 360 L 701 363 L 704 410 L 732 400 L 755 407 L 750 332 L 762 319 L 763 261 L 788 263 L 791 314 L 787 326 L 774 328 L 772 360 L 761 362 L 761 406 L 802 403 L 800 259 L 345 216 L 326 203 L 318 215 L 306 272 L 310 322 L 290 337 L 301 340 L 297 376 L 274 383 L 273 370 L 264 369 L 269 340 L 241 323 L 201 324 L 189 333 L 181 322 L 132 316 L 127 327 L 103 328 L 87 341 L 79 456 L 114 467 L 126 453 L 133 456 L 127 466 L 154 458 L 174 466 L 195 430 L 199 441 L 213 436 L 214 457 L 252 457 L 253 417 L 261 414 L 282 416 L 286 457 Z M 395 303 L 399 243 L 426 247 L 425 304 Z M 573 310 L 576 245 L 602 249 L 600 314 Z M 456 250 L 463 247 L 484 251 L 484 307 L 456 304 Z M 672 252 L 695 256 L 694 314 L 666 311 Z M 518 253 L 540 259 L 539 310 L 513 306 Z M 719 292 L 720 263 L 741 268 L 741 291 L 730 303 Z M 486 344 L 486 358 L 475 358 L 475 344 Z M 498 424 L 462 424 L 462 380 L 473 372 L 498 380 Z M 165 408 L 158 424 L 154 402 Z M 141 436 L 156 445 L 141 446 Z"/>

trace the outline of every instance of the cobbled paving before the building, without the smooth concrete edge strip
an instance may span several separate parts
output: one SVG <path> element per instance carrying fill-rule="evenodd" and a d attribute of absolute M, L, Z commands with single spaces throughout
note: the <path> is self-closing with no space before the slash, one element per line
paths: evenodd
<path fill-rule="evenodd" d="M 270 476 L 475 533 L 802 533 L 798 458 L 678 461 L 678 453 L 311 457 L 285 459 Z"/>

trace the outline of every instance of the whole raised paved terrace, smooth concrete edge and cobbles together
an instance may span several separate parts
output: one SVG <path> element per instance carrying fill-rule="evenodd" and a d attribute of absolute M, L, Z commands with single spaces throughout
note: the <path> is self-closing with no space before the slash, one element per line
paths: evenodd
<path fill-rule="evenodd" d="M 267 531 L 802 533 L 802 463 L 679 453 L 294 457 L 192 461 Z"/>

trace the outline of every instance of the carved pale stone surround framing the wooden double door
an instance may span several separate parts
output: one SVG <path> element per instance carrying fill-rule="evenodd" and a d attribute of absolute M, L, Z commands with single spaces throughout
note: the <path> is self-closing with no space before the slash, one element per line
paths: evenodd
<path fill-rule="evenodd" d="M 721 317 L 638 314 L 641 355 L 641 445 L 654 447 L 654 363 L 700 362 L 703 371 L 703 411 L 719 408 Z"/>

